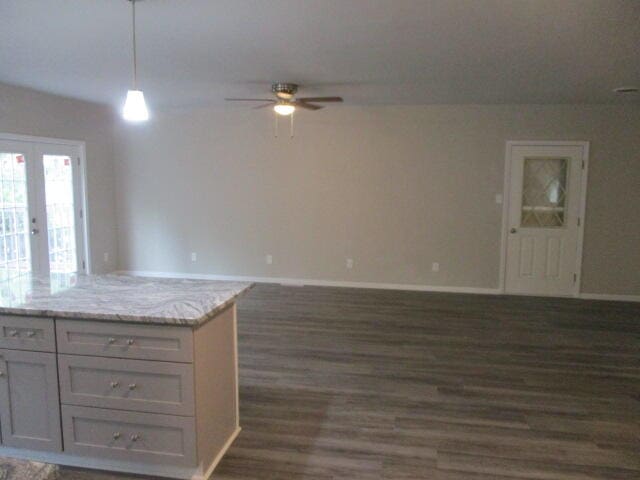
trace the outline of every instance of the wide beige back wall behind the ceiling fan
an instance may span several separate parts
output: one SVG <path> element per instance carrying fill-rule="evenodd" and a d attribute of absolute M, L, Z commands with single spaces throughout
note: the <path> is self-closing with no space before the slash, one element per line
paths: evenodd
<path fill-rule="evenodd" d="M 638 106 L 342 106 L 280 134 L 236 107 L 120 129 L 120 268 L 496 288 L 505 141 L 587 140 L 582 291 L 640 294 Z"/>

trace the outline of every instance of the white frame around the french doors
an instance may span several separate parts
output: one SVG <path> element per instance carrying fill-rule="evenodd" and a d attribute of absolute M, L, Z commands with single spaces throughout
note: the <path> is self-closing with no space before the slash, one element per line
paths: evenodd
<path fill-rule="evenodd" d="M 78 179 L 79 179 L 79 197 L 78 207 L 82 211 L 80 236 L 82 244 L 79 245 L 79 260 L 84 264 L 84 273 L 91 273 L 91 245 L 89 243 L 89 202 L 87 200 L 87 169 L 86 169 L 86 143 L 81 140 L 66 140 L 62 138 L 36 137 L 33 135 L 18 135 L 14 133 L 0 132 L 0 140 L 16 141 L 16 142 L 32 142 L 45 143 L 50 145 L 67 145 L 77 147 L 80 158 L 78 159 Z M 74 192 L 76 193 L 76 192 Z M 77 238 L 77 235 L 76 235 Z M 82 268 L 82 265 L 79 265 Z"/>

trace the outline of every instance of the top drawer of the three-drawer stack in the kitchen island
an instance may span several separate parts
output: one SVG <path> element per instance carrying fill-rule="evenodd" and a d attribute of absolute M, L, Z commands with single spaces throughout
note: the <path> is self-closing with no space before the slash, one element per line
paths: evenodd
<path fill-rule="evenodd" d="M 193 361 L 193 331 L 189 327 L 57 320 L 56 330 L 59 353 Z"/>

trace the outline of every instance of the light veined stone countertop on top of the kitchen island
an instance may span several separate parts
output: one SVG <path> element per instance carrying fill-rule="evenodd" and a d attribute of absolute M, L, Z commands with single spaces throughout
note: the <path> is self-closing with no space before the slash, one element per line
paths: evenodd
<path fill-rule="evenodd" d="M 0 314 L 197 327 L 251 287 L 115 274 L 27 274 L 0 281 Z"/>

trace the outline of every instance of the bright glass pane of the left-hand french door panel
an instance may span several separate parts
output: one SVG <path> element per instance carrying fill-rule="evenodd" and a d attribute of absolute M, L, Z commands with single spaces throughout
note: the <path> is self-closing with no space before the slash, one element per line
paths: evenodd
<path fill-rule="evenodd" d="M 27 174 L 22 153 L 0 152 L 0 280 L 31 271 Z"/>

